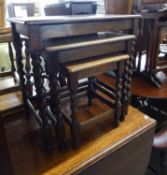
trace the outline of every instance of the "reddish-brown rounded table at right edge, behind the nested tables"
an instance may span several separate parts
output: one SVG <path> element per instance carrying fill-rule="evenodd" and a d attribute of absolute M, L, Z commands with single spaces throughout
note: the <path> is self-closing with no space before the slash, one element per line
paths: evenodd
<path fill-rule="evenodd" d="M 134 76 L 131 91 L 132 105 L 155 118 L 159 125 L 165 122 L 167 117 L 167 77 L 162 72 L 159 72 L 157 77 L 162 82 L 161 88 L 144 76 Z"/>

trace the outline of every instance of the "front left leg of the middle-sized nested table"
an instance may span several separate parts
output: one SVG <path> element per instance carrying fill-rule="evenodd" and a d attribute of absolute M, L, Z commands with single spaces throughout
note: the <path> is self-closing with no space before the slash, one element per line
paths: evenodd
<path fill-rule="evenodd" d="M 61 102 L 60 102 L 60 90 L 62 86 L 62 82 L 59 79 L 60 74 L 58 71 L 58 63 L 54 64 L 50 59 L 53 58 L 54 55 L 46 54 L 45 59 L 45 68 L 46 74 L 49 76 L 49 88 L 50 88 L 50 107 L 51 111 L 56 118 L 56 122 L 54 122 L 54 127 L 56 130 L 56 135 L 58 138 L 59 148 L 64 150 L 66 148 L 65 143 L 65 122 L 63 119 L 62 111 L 61 111 Z M 64 78 L 64 77 L 62 77 Z M 63 84 L 64 85 L 64 84 Z"/>

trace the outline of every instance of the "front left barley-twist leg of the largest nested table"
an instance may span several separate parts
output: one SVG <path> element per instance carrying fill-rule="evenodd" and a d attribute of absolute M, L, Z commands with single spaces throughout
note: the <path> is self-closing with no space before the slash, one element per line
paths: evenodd
<path fill-rule="evenodd" d="M 43 77 L 43 67 L 41 66 L 41 53 L 35 51 L 32 53 L 32 65 L 33 65 L 33 75 L 35 80 L 36 88 L 36 98 L 37 98 L 37 108 L 39 109 L 39 115 L 42 119 L 43 126 L 41 128 L 42 141 L 44 143 L 44 149 L 46 151 L 52 151 L 52 132 L 51 127 L 48 123 L 48 101 L 46 96 L 46 89 L 44 87 L 44 77 Z"/>

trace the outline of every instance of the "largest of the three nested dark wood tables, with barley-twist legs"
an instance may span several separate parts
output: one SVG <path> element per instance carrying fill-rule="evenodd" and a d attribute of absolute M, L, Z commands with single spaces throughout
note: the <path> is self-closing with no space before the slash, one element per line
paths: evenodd
<path fill-rule="evenodd" d="M 93 32 L 97 33 L 97 31 L 130 31 L 134 34 L 135 31 L 137 31 L 136 24 L 138 23 L 139 18 L 141 18 L 140 15 L 83 15 L 9 19 L 12 26 L 24 105 L 27 112 L 31 111 L 37 119 L 42 128 L 42 133 L 45 138 L 44 140 L 48 140 L 48 119 L 54 124 L 58 123 L 59 126 L 62 123 L 60 121 L 57 122 L 56 117 L 53 115 L 53 110 L 51 111 L 47 98 L 47 90 L 44 84 L 45 79 L 48 78 L 41 64 L 41 54 L 44 51 L 45 41 L 53 38 L 59 39 L 69 36 L 89 35 Z M 29 93 L 27 88 L 29 86 L 27 84 L 29 81 L 26 79 L 27 73 L 24 70 L 22 62 L 23 56 L 20 35 L 27 37 L 29 42 L 37 101 L 36 109 L 39 110 L 39 112 L 36 112 L 36 109 L 31 103 L 31 96 L 29 95 L 31 93 Z M 76 55 L 77 54 L 78 53 L 76 53 Z M 69 55 L 66 54 L 66 57 L 69 58 Z"/>

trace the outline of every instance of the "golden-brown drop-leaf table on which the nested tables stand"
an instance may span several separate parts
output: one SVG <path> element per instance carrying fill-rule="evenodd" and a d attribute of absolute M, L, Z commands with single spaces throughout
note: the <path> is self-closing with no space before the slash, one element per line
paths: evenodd
<path fill-rule="evenodd" d="M 88 109 L 86 106 L 84 108 L 82 107 L 82 110 L 79 112 L 80 118 L 92 117 L 94 114 L 98 114 L 103 110 L 106 110 L 106 106 L 96 101 L 91 109 Z M 133 173 L 136 175 L 144 174 L 151 150 L 155 121 L 130 107 L 128 116 L 121 123 L 120 127 L 111 130 L 111 126 L 113 126 L 111 121 L 104 122 L 82 133 L 81 147 L 75 151 L 68 144 L 68 149 L 64 153 L 61 153 L 56 148 L 53 153 L 47 155 L 39 149 L 40 140 L 35 129 L 36 124 L 34 121 L 30 120 L 27 122 L 27 119 L 22 118 L 9 123 L 6 125 L 6 131 L 15 174 L 82 174 L 82 171 L 98 164 L 97 162 L 100 162 L 110 154 L 112 157 L 115 152 L 120 154 L 116 156 L 120 158 L 117 161 L 123 162 L 121 164 L 117 162 L 117 166 L 113 166 L 114 161 L 113 163 L 109 163 L 110 171 L 115 169 L 114 167 L 117 167 L 116 173 L 119 172 L 119 175 L 121 175 L 122 169 L 126 170 L 126 175 L 134 175 Z M 13 132 L 13 129 L 15 132 Z M 91 134 L 89 134 L 90 132 Z M 148 135 L 143 138 L 144 133 L 148 133 Z M 133 152 L 132 148 L 136 147 L 133 145 L 132 147 L 128 147 L 133 154 L 131 152 L 131 154 L 124 155 L 123 152 L 128 152 L 128 150 L 123 151 L 126 145 L 132 143 L 135 139 L 141 139 L 140 144 L 142 145 L 142 149 L 139 147 L 138 151 L 135 149 Z M 139 143 L 135 142 L 135 144 L 138 145 Z M 121 156 L 126 156 L 126 159 Z M 115 158 L 113 159 L 116 160 Z M 131 167 L 132 160 L 135 162 L 133 164 L 134 168 Z M 143 162 L 144 164 L 142 164 Z M 99 173 L 102 172 L 100 171 Z M 85 172 L 85 174 L 87 173 Z M 98 172 L 94 172 L 93 174 L 98 174 Z"/>

